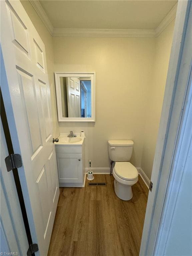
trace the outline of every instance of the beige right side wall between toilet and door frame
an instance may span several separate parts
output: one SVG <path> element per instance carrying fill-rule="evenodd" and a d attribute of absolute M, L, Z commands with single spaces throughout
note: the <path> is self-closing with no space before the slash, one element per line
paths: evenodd
<path fill-rule="evenodd" d="M 169 57 L 172 45 L 173 20 L 166 29 L 156 38 L 155 42 L 155 58 L 152 83 L 148 95 L 148 104 L 146 111 L 146 122 L 144 126 L 144 144 L 141 160 L 141 168 L 151 178 L 153 167 L 153 158 L 159 129 L 161 109 L 163 104 L 163 96 L 167 78 L 167 70 L 169 65 Z"/>

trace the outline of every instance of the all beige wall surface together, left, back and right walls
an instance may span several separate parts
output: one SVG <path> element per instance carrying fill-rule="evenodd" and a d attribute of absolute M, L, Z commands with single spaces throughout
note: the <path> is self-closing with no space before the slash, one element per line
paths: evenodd
<path fill-rule="evenodd" d="M 131 162 L 150 178 L 174 21 L 158 38 L 52 38 L 30 2 L 21 3 L 45 44 L 54 137 L 84 130 L 92 167 L 109 167 L 107 140 L 132 139 Z M 58 123 L 54 71 L 96 72 L 96 123 Z"/>

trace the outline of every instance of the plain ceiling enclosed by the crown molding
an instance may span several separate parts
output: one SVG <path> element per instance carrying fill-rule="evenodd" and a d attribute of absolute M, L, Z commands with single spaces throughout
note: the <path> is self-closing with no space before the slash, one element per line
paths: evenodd
<path fill-rule="evenodd" d="M 176 0 L 43 0 L 54 28 L 156 29 Z"/>

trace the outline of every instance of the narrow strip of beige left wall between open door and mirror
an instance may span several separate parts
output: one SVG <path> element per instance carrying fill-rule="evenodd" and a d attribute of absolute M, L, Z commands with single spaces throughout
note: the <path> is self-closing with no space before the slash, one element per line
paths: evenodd
<path fill-rule="evenodd" d="M 57 105 L 56 105 L 56 93 L 55 93 L 55 79 L 54 79 L 54 56 L 53 56 L 53 37 L 39 18 L 33 6 L 27 0 L 21 1 L 25 11 L 39 33 L 43 43 L 45 44 L 46 60 L 47 60 L 47 72 L 49 76 L 49 83 L 51 89 L 51 105 L 52 105 L 52 116 L 53 116 L 53 137 L 59 135 L 59 126 L 57 118 Z"/>

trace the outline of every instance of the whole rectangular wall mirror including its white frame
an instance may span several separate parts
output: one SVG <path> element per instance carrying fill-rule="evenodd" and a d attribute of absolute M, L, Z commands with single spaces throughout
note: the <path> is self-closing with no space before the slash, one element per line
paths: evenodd
<path fill-rule="evenodd" d="M 59 122 L 95 122 L 95 73 L 55 72 Z"/>

